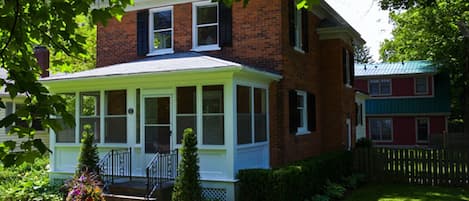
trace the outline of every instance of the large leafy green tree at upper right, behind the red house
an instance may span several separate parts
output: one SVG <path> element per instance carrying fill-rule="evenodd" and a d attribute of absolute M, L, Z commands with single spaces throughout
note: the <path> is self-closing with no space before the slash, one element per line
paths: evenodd
<path fill-rule="evenodd" d="M 381 1 L 383 8 L 408 8 L 391 13 L 396 26 L 393 38 L 382 43 L 381 58 L 392 62 L 424 59 L 440 65 L 450 75 L 453 116 L 464 119 L 469 134 L 468 54 L 461 34 L 461 25 L 469 22 L 469 4 L 465 0 L 406 2 Z"/>

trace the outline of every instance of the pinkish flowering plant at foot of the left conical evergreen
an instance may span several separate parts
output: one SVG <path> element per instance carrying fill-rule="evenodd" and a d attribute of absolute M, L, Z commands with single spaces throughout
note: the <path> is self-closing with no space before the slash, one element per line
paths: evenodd
<path fill-rule="evenodd" d="M 99 175 L 84 171 L 68 183 L 66 201 L 105 201 Z"/>

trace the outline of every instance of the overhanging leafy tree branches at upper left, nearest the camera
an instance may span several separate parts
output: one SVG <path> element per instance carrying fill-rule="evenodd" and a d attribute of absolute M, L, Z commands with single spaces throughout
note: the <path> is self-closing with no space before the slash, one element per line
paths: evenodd
<path fill-rule="evenodd" d="M 7 79 L 0 79 L 0 84 L 11 98 L 26 95 L 25 107 L 0 120 L 0 127 L 13 125 L 10 134 L 28 139 L 19 146 L 14 141 L 0 143 L 0 161 L 5 166 L 32 162 L 48 151 L 41 140 L 34 139 L 33 119 L 41 119 L 44 128 L 54 130 L 60 129 L 60 125 L 50 118 L 51 115 L 62 116 L 70 125 L 74 122 L 73 116 L 65 110 L 63 99 L 51 95 L 39 83 L 40 68 L 33 48 L 42 45 L 72 57 L 86 54 L 83 48 L 86 37 L 77 31 L 78 16 L 90 17 L 93 24 L 106 24 L 111 17 L 120 19 L 124 8 L 133 0 L 106 2 L 106 6 L 91 8 L 95 0 L 0 1 L 0 65 L 8 71 Z M 5 108 L 3 101 L 0 107 Z M 19 121 L 26 124 L 14 124 Z M 22 151 L 13 152 L 16 147 Z"/>

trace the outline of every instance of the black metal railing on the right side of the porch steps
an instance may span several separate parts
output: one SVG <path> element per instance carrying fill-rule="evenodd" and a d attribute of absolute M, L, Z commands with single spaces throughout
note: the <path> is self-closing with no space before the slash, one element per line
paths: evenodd
<path fill-rule="evenodd" d="M 169 153 L 156 153 L 146 168 L 147 197 L 152 197 L 165 183 L 174 181 L 177 177 L 177 168 L 177 149 Z"/>

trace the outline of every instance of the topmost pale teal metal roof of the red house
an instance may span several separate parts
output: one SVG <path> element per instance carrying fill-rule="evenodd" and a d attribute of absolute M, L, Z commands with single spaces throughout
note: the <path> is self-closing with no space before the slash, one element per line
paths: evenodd
<path fill-rule="evenodd" d="M 355 64 L 355 76 L 391 76 L 436 73 L 437 68 L 429 61 L 405 61 L 397 63 Z"/>

